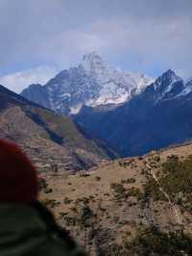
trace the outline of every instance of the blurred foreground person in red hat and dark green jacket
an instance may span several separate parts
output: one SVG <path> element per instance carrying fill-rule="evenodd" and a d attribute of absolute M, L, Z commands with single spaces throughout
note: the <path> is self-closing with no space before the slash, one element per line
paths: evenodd
<path fill-rule="evenodd" d="M 36 169 L 12 142 L 0 140 L 0 255 L 83 256 L 37 201 Z"/>

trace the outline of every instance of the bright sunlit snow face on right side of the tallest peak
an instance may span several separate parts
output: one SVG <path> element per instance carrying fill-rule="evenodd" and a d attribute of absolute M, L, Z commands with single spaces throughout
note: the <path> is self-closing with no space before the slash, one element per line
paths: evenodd
<path fill-rule="evenodd" d="M 154 81 L 140 73 L 127 73 L 109 67 L 96 52 L 84 55 L 80 67 L 85 73 L 94 77 L 101 87 L 99 96 L 85 103 L 91 107 L 123 103 Z"/>

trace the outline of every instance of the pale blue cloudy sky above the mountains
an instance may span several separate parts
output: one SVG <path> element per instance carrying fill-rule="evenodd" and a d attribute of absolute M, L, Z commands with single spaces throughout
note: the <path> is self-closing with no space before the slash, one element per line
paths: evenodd
<path fill-rule="evenodd" d="M 97 51 L 156 77 L 192 76 L 191 0 L 0 0 L 0 83 L 20 91 Z"/>

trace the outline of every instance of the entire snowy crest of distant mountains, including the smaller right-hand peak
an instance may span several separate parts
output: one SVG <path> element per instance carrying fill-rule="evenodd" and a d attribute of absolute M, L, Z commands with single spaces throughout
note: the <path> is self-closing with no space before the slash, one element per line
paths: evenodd
<path fill-rule="evenodd" d="M 184 82 L 168 69 L 155 80 L 110 67 L 96 52 L 91 52 L 84 55 L 78 66 L 62 70 L 45 86 L 30 86 L 21 95 L 60 114 L 76 115 L 83 106 L 117 107 L 148 87 L 157 104 L 192 92 L 192 78 Z"/>

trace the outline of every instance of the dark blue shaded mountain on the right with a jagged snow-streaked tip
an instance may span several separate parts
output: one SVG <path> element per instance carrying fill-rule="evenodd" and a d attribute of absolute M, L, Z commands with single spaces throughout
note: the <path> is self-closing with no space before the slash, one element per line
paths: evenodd
<path fill-rule="evenodd" d="M 75 119 L 121 156 L 144 154 L 192 138 L 191 88 L 192 80 L 184 83 L 167 70 L 122 106 L 106 111 L 84 106 Z"/>

